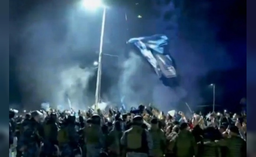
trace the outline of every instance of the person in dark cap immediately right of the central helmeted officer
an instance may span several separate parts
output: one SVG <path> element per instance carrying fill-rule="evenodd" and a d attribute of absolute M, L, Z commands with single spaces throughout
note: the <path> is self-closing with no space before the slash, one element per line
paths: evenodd
<path fill-rule="evenodd" d="M 153 156 L 163 157 L 166 148 L 166 137 L 163 130 L 159 128 L 159 121 L 153 118 L 151 121 L 151 128 L 148 130 L 153 141 Z"/>

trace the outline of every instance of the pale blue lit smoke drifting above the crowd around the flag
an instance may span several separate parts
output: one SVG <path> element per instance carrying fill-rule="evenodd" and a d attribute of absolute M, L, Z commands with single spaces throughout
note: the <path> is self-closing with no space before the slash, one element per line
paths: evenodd
<path fill-rule="evenodd" d="M 156 7 L 161 12 L 159 18 L 138 24 L 143 27 L 145 35 L 162 33 L 170 38 L 170 53 L 181 77 L 180 86 L 173 89 L 163 86 L 138 55 L 131 52 L 128 58 L 124 57 L 123 47 L 127 39 L 121 36 L 126 29 L 123 26 L 125 19 L 123 15 L 119 16 L 118 10 L 107 12 L 104 53 L 119 57 L 104 56 L 103 100 L 118 104 L 125 96 L 128 107 L 152 102 L 162 110 L 169 110 L 176 108 L 179 101 L 187 97 L 188 102 L 195 106 L 202 100 L 198 77 L 212 69 L 223 68 L 223 65 L 232 66 L 222 46 L 216 44 L 215 32 L 210 31 L 203 20 L 190 23 L 186 22 L 186 18 L 179 20 L 181 7 L 174 6 L 173 2 Z M 24 19 L 17 37 L 22 44 L 22 56 L 17 61 L 19 66 L 16 69 L 22 89 L 22 104 L 24 108 L 38 109 L 41 102 L 48 101 L 53 107 L 61 104 L 68 108 L 69 98 L 74 108 L 86 109 L 95 99 L 95 60 L 98 59 L 96 51 L 100 42 L 101 12 L 92 17 L 79 9 L 74 11 L 74 8 L 52 8 L 49 5 L 40 8 L 31 11 Z M 169 21 L 163 20 L 166 11 L 174 12 Z M 130 25 L 137 26 L 132 18 Z M 183 27 L 180 28 L 180 25 Z M 184 28 L 191 25 L 202 27 L 200 35 L 204 37 L 198 40 L 199 32 Z M 208 42 L 204 43 L 206 40 Z M 119 44 L 115 44 L 117 41 Z M 206 55 L 206 51 L 211 51 L 212 55 Z"/>

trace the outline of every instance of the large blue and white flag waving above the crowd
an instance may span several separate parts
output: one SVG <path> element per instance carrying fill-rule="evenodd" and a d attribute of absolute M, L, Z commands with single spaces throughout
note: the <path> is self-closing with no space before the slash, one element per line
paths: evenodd
<path fill-rule="evenodd" d="M 177 77 L 177 74 L 173 58 L 164 49 L 168 45 L 168 38 L 165 35 L 131 38 L 128 44 L 134 44 L 154 68 L 163 84 L 170 86 L 170 79 Z"/>

